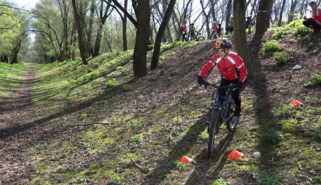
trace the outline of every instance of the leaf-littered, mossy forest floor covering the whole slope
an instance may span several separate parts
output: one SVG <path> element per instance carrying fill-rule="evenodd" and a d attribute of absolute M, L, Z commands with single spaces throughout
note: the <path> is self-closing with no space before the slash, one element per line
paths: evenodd
<path fill-rule="evenodd" d="M 204 123 L 213 89 L 196 76 L 213 43 L 164 45 L 159 67 L 138 80 L 132 50 L 87 66 L 26 65 L 21 86 L 1 99 L 0 184 L 319 184 L 321 87 L 304 85 L 321 68 L 318 38 L 283 36 L 278 51 L 289 55 L 278 65 L 262 53 L 272 31 L 248 37 L 255 79 L 242 91 L 237 131 L 222 126 L 212 158 Z M 217 70 L 207 79 L 218 83 Z M 244 157 L 228 159 L 232 150 Z"/>

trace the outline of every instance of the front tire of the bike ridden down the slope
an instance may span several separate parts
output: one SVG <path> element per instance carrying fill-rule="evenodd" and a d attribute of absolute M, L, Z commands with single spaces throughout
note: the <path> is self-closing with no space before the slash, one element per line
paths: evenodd
<path fill-rule="evenodd" d="M 210 122 L 209 122 L 209 142 L 207 147 L 207 155 L 208 157 L 212 157 L 214 154 L 215 149 L 215 135 L 217 134 L 217 116 L 218 116 L 218 110 L 212 108 L 210 111 Z"/>

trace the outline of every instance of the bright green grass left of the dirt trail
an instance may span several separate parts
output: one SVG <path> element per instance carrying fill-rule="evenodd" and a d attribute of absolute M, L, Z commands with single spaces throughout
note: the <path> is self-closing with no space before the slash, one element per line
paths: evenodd
<path fill-rule="evenodd" d="M 10 95 L 10 90 L 20 86 L 28 64 L 0 63 L 0 101 Z"/>

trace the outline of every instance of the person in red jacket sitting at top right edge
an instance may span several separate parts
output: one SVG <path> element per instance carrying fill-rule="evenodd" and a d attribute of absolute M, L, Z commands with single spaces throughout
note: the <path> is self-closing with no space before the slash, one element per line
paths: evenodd
<path fill-rule="evenodd" d="M 310 2 L 309 6 L 312 9 L 313 18 L 306 18 L 303 17 L 303 25 L 311 28 L 314 30 L 314 32 L 318 32 L 321 29 L 321 9 L 317 8 L 317 5 L 315 2 Z"/>

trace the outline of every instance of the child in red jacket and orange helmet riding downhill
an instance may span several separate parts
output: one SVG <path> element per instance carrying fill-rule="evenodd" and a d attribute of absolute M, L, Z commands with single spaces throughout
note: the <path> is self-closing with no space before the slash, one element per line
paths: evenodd
<path fill-rule="evenodd" d="M 235 102 L 234 116 L 237 117 L 236 121 L 238 121 L 241 114 L 241 99 L 239 97 L 240 88 L 242 88 L 247 80 L 247 70 L 242 58 L 232 51 L 232 42 L 229 39 L 218 39 L 214 49 L 216 54 L 203 66 L 198 75 L 197 82 L 200 85 L 204 85 L 206 88 L 208 84 L 204 80 L 204 77 L 215 65 L 217 65 L 217 68 L 221 73 L 220 86 L 228 86 L 231 83 L 236 84 L 237 88 L 233 89 L 232 98 Z M 226 89 L 220 88 L 218 92 L 220 96 L 225 96 Z"/>

